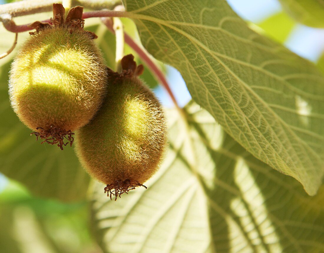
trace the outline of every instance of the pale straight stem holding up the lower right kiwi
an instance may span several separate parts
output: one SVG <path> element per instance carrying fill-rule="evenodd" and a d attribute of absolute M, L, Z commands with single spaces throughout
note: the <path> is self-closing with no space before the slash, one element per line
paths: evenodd
<path fill-rule="evenodd" d="M 118 17 L 113 18 L 113 30 L 116 35 L 116 72 L 121 73 L 121 59 L 124 57 L 124 29 Z"/>

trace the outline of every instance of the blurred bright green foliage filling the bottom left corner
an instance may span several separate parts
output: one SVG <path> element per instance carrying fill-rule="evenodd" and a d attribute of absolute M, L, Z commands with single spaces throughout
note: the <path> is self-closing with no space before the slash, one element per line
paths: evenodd
<path fill-rule="evenodd" d="M 96 246 L 87 231 L 87 205 L 26 196 L 9 183 L 0 193 L 0 252 L 86 253 Z M 15 198 L 3 197 L 14 194 Z"/>

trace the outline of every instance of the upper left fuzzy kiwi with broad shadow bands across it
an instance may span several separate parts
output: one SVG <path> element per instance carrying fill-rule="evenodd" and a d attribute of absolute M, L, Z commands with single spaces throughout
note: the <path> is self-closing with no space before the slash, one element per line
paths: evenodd
<path fill-rule="evenodd" d="M 66 16 L 53 5 L 52 24 L 31 24 L 36 32 L 22 45 L 10 71 L 11 105 L 44 142 L 62 150 L 73 131 L 86 125 L 105 97 L 107 71 L 95 34 L 83 29 L 83 7 Z M 68 142 L 64 143 L 64 138 Z"/>

